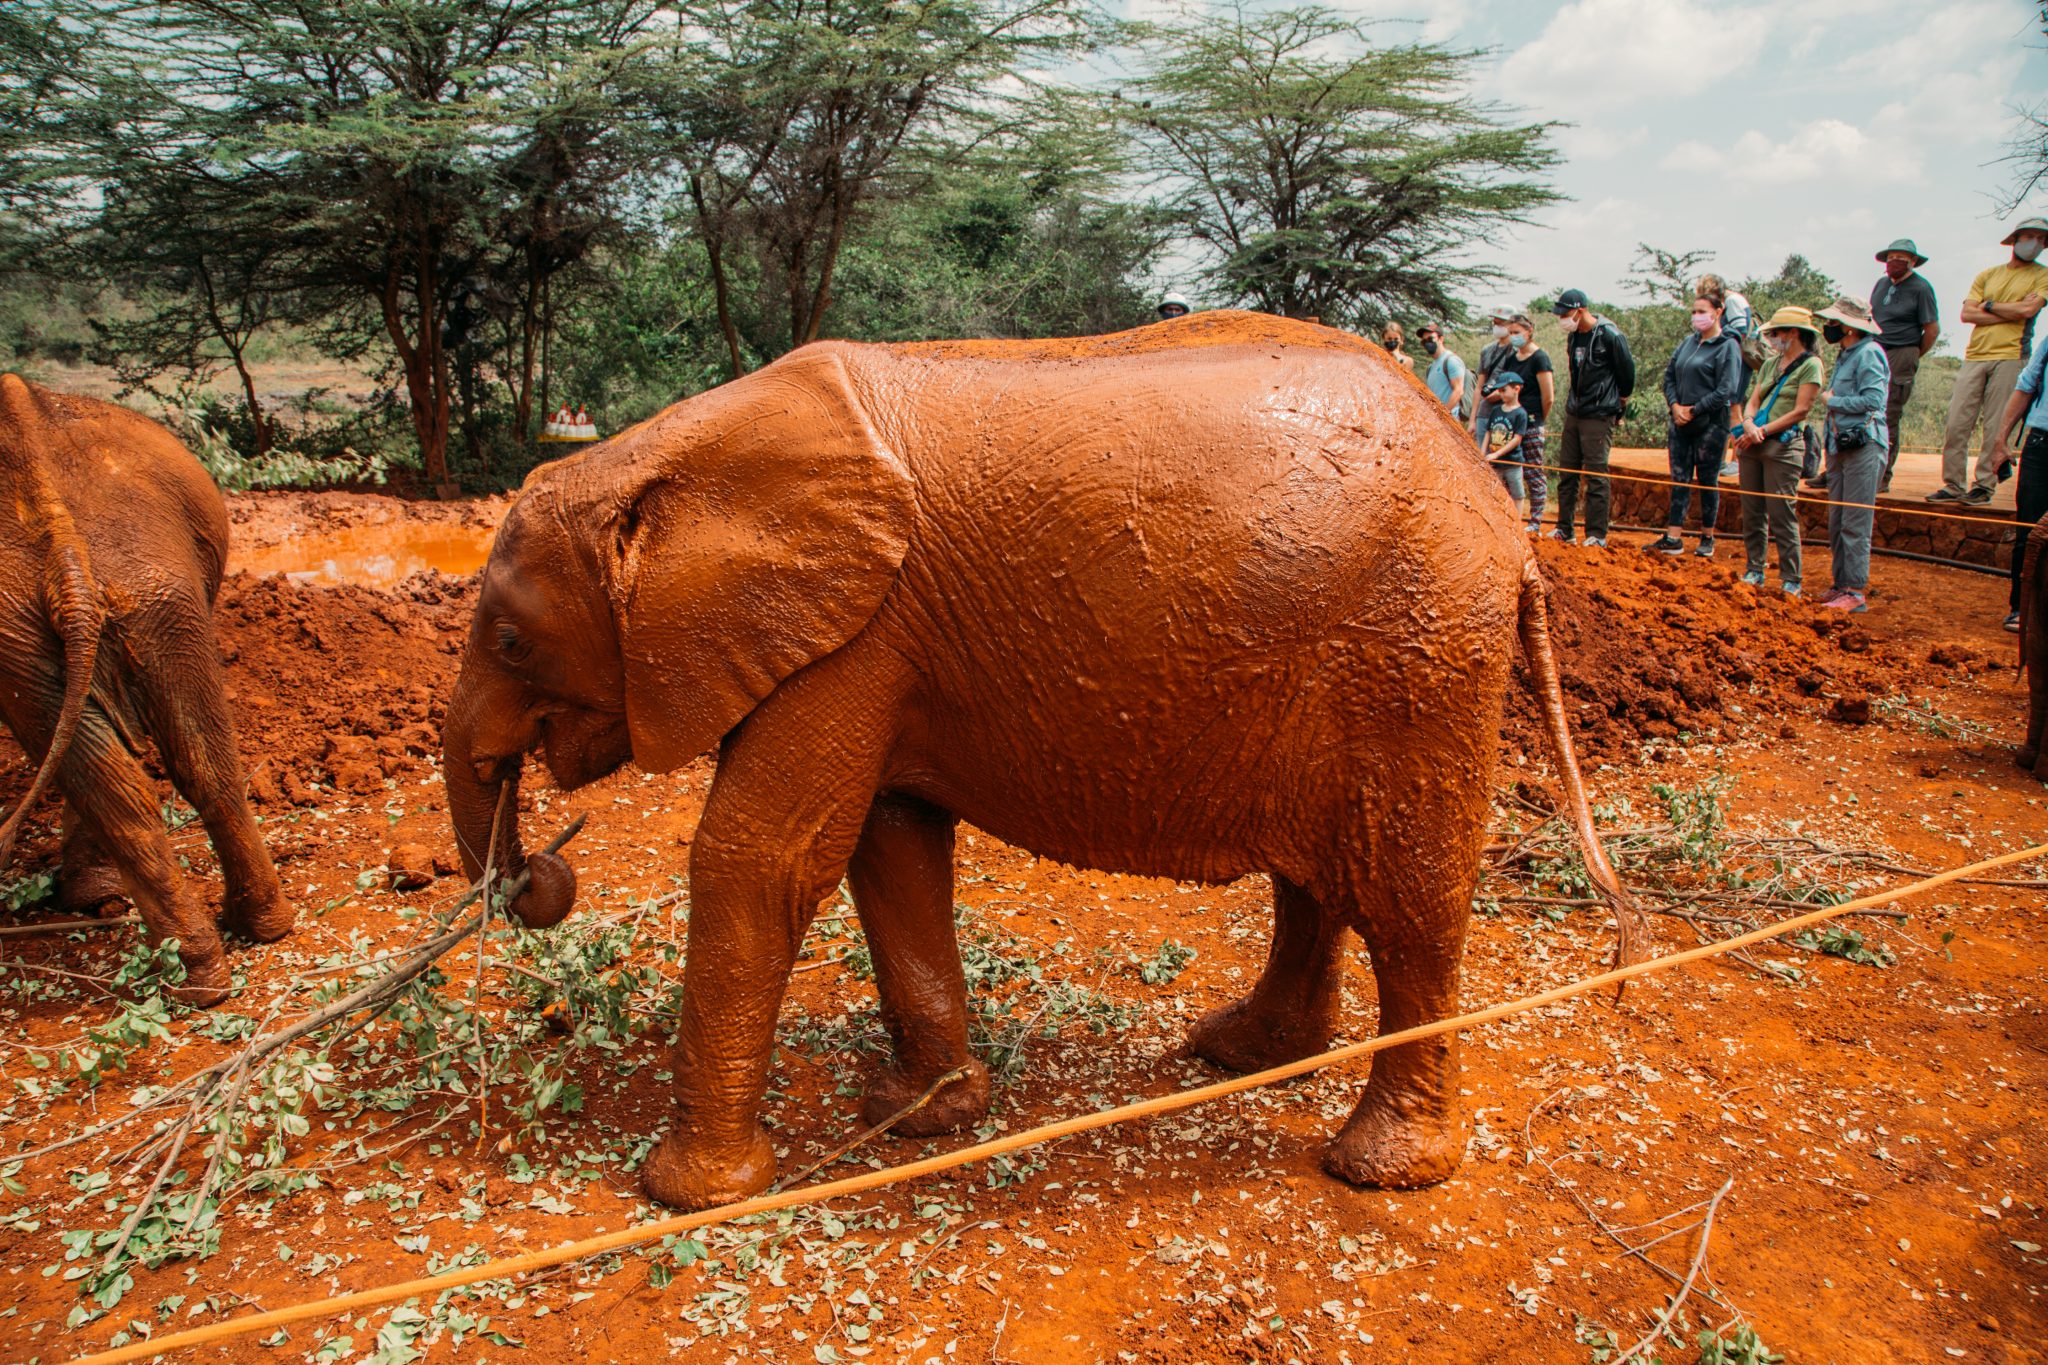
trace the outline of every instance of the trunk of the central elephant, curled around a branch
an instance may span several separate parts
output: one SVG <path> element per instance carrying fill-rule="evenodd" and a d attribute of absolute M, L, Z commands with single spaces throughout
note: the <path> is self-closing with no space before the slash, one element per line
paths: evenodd
<path fill-rule="evenodd" d="M 524 749 L 477 751 L 481 706 L 467 684 L 467 675 L 457 684 L 442 731 L 442 778 L 449 786 L 449 819 L 455 823 L 463 872 L 471 882 L 483 876 L 485 864 L 500 882 L 524 872 L 526 890 L 506 909 L 528 929 L 547 929 L 561 923 L 575 905 L 575 872 L 553 853 L 526 855 L 518 831 Z"/>

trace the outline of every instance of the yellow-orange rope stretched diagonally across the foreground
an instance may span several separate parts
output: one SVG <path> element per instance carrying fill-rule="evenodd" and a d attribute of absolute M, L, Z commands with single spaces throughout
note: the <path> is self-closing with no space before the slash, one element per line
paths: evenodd
<path fill-rule="evenodd" d="M 1006 1152 L 1016 1152 L 1018 1148 L 1038 1146 L 1042 1142 L 1057 1142 L 1061 1138 L 1071 1138 L 1075 1134 L 1094 1132 L 1098 1128 L 1112 1128 L 1116 1124 L 1128 1124 L 1133 1119 L 1145 1119 L 1159 1113 L 1174 1113 L 1178 1109 L 1188 1109 L 1214 1099 L 1225 1099 L 1227 1095 L 1239 1095 L 1243 1091 L 1253 1091 L 1276 1081 L 1292 1081 L 1311 1070 L 1323 1066 L 1333 1066 L 1337 1062 L 1352 1062 L 1362 1056 L 1372 1056 L 1386 1048 L 1399 1048 L 1401 1044 L 1421 1042 L 1425 1038 L 1440 1038 L 1444 1033 L 1456 1033 L 1460 1029 L 1477 1027 L 1481 1023 L 1497 1023 L 1499 1019 L 1509 1019 L 1513 1015 L 1540 1009 L 1544 1005 L 1554 1005 L 1559 1001 L 1569 1001 L 1575 995 L 1589 995 L 1593 990 L 1604 990 L 1608 986 L 1618 986 L 1624 980 L 1634 980 L 1638 976 L 1649 976 L 1653 972 L 1663 972 L 1686 962 L 1702 962 L 1706 958 L 1718 958 L 1722 954 L 1739 952 L 1755 943 L 1763 943 L 1786 933 L 1796 933 L 1800 929 L 1827 923 L 1839 915 L 1849 915 L 1853 911 L 1868 911 L 1880 905 L 1890 905 L 1892 900 L 1903 900 L 1915 896 L 1923 890 L 1933 890 L 1958 878 L 1976 876 L 1993 868 L 2003 868 L 2015 862 L 2028 862 L 2030 857 L 2040 857 L 2048 853 L 2048 843 L 2036 843 L 2030 849 L 2019 849 L 2015 853 L 1999 853 L 1997 857 L 1987 857 L 1982 862 L 1968 864 L 1966 868 L 1952 868 L 1948 872 L 1937 872 L 1935 876 L 1911 882 L 1896 890 L 1878 892 L 1874 896 L 1864 896 L 1860 900 L 1847 900 L 1843 905 L 1823 907 L 1808 915 L 1794 915 L 1792 919 L 1780 921 L 1776 925 L 1765 925 L 1763 929 L 1751 929 L 1733 939 L 1720 943 L 1702 943 L 1700 948 L 1688 948 L 1686 952 L 1675 952 L 1663 958 L 1651 958 L 1649 962 L 1636 962 L 1632 966 L 1616 968 L 1612 972 L 1602 972 L 1597 976 L 1587 976 L 1583 980 L 1554 986 L 1542 990 L 1540 995 L 1530 995 L 1520 1001 L 1509 1001 L 1505 1005 L 1493 1005 L 1468 1015 L 1458 1015 L 1454 1019 L 1438 1019 L 1436 1023 L 1423 1023 L 1413 1029 L 1401 1029 L 1399 1033 L 1384 1033 L 1360 1044 L 1348 1044 L 1343 1048 L 1331 1048 L 1311 1058 L 1298 1062 L 1288 1062 L 1284 1066 L 1270 1066 L 1245 1076 L 1233 1076 L 1231 1081 L 1217 1081 L 1214 1085 L 1200 1085 L 1190 1091 L 1176 1091 L 1171 1095 L 1155 1095 L 1153 1099 L 1143 1099 L 1130 1105 L 1118 1105 L 1114 1109 L 1100 1109 L 1096 1113 L 1083 1113 L 1071 1119 L 1059 1119 L 1057 1124 L 1044 1124 L 1020 1134 L 1010 1134 L 1008 1138 L 995 1138 L 989 1142 L 977 1142 L 965 1146 L 956 1152 L 944 1152 L 938 1156 L 926 1156 L 922 1160 L 903 1162 L 901 1166 L 885 1166 L 883 1171 L 862 1171 L 860 1175 L 850 1175 L 840 1181 L 825 1181 L 823 1185 L 809 1185 L 805 1189 L 786 1189 L 772 1195 L 760 1195 L 754 1199 L 741 1199 L 737 1203 L 727 1203 L 715 1209 L 702 1209 L 698 1214 L 678 1214 L 674 1218 L 662 1218 L 649 1224 L 639 1224 L 635 1228 L 621 1228 L 618 1232 L 604 1232 L 598 1236 L 582 1238 L 578 1242 L 565 1242 L 561 1246 L 549 1246 L 547 1250 L 526 1252 L 522 1257 L 506 1257 L 504 1261 L 485 1261 L 483 1265 L 473 1265 L 457 1271 L 444 1271 L 440 1275 L 426 1275 L 422 1279 L 408 1279 L 397 1285 L 383 1285 L 379 1289 L 360 1289 L 356 1293 L 340 1293 L 326 1300 L 311 1300 L 305 1304 L 293 1304 L 289 1308 L 272 1308 L 268 1312 L 254 1314 L 250 1318 L 231 1318 L 227 1322 L 211 1322 L 207 1326 L 188 1328 L 184 1332 L 172 1332 L 170 1336 L 158 1336 L 154 1340 L 137 1340 L 115 1351 L 100 1351 L 96 1355 L 86 1355 L 74 1361 L 74 1365 L 121 1365 L 123 1361 L 145 1361 L 150 1357 L 168 1355 L 172 1351 L 188 1351 L 193 1347 L 205 1347 L 215 1340 L 227 1340 L 231 1336 L 248 1336 L 250 1332 L 274 1330 L 289 1326 L 293 1322 L 305 1322 L 309 1318 L 338 1318 L 344 1314 L 362 1312 L 367 1308 L 381 1308 L 385 1304 L 397 1304 L 426 1293 L 440 1293 L 444 1289 L 461 1289 L 463 1285 L 473 1285 L 485 1279 L 508 1279 L 512 1275 L 528 1275 L 532 1271 L 545 1271 L 569 1261 L 582 1261 L 586 1257 L 598 1257 L 610 1250 L 625 1250 L 627 1246 L 641 1246 L 664 1236 L 678 1232 L 690 1232 L 717 1222 L 729 1222 L 735 1218 L 750 1218 L 754 1214 L 774 1214 L 778 1209 L 795 1207 L 801 1203 L 817 1203 L 821 1199 L 840 1199 L 844 1195 L 858 1195 L 870 1189 L 883 1189 L 885 1185 L 899 1185 L 903 1181 L 915 1181 L 928 1175 L 938 1175 L 942 1171 L 954 1171 L 979 1160 L 989 1160 L 991 1156 L 1004 1156 Z"/>

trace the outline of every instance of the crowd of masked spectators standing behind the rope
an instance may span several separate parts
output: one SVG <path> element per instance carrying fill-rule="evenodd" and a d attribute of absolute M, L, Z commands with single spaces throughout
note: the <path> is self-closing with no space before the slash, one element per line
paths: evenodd
<path fill-rule="evenodd" d="M 1962 303 L 1960 321 L 1970 334 L 1948 405 L 1942 487 L 1925 501 L 1985 505 L 2017 471 L 2019 532 L 2005 618 L 2005 626 L 2017 630 L 2028 532 L 2048 514 L 2048 336 L 2038 336 L 2034 325 L 2048 299 L 2048 264 L 2040 260 L 2048 219 L 2023 219 L 2003 246 L 2007 260 L 1980 270 Z M 1743 581 L 1765 585 L 1765 561 L 1776 546 L 1780 589 L 1794 598 L 1806 593 L 1794 508 L 1804 481 L 1825 487 L 1829 505 L 1831 583 L 1817 604 L 1866 610 L 1874 503 L 1890 489 L 1901 415 L 1921 360 L 1942 336 L 1933 287 L 1919 274 L 1927 264 L 1919 248 L 1901 237 L 1876 252 L 1876 260 L 1884 272 L 1868 301 L 1835 299 L 1815 311 L 1780 307 L 1761 323 L 1749 299 L 1718 276 L 1700 276 L 1692 329 L 1663 366 L 1669 510 L 1663 534 L 1642 548 L 1683 555 L 1698 501 L 1692 553 L 1702 559 L 1718 553 L 1720 475 L 1733 450 Z M 1593 313 L 1585 291 L 1563 291 L 1550 311 L 1565 327 L 1567 375 L 1554 456 L 1546 432 L 1561 403 L 1559 370 L 1536 344 L 1526 313 L 1493 313 L 1493 340 L 1470 366 L 1450 348 L 1442 323 L 1415 327 L 1421 354 L 1409 354 L 1399 323 L 1382 329 L 1380 344 L 1403 368 L 1421 366 L 1430 393 L 1468 426 L 1507 495 L 1526 508 L 1530 534 L 1542 532 L 1554 473 L 1550 536 L 1599 548 L 1612 530 L 1608 458 L 1614 430 L 1636 401 L 1636 358 L 1622 329 Z M 1817 405 L 1825 417 L 1815 426 Z"/>

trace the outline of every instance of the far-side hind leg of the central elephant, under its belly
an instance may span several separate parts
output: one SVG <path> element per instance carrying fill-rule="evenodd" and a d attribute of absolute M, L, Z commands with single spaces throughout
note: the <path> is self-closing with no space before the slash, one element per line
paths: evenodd
<path fill-rule="evenodd" d="M 1329 1046 L 1343 1007 L 1346 927 L 1305 888 L 1274 874 L 1274 939 L 1251 993 L 1202 1015 L 1188 1048 L 1235 1072 Z"/>

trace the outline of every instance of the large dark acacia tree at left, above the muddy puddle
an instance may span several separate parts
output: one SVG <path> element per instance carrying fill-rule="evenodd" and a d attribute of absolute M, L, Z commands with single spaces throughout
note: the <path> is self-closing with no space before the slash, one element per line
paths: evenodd
<path fill-rule="evenodd" d="M 537 299 L 625 213 L 641 164 L 625 72 L 655 0 L 49 2 L 90 35 L 59 141 L 94 168 L 104 209 L 84 217 L 129 244 L 115 260 L 182 262 L 195 325 L 207 282 L 233 280 L 330 350 L 381 334 L 436 483 L 496 311 L 524 428 Z M 143 227 L 131 205 L 176 211 Z"/>

